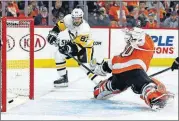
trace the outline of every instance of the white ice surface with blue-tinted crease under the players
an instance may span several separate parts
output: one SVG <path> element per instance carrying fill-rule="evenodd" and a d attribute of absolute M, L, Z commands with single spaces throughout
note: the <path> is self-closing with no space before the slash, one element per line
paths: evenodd
<path fill-rule="evenodd" d="M 166 67 L 152 67 L 153 74 Z M 18 99 L 9 104 L 13 107 L 1 113 L 2 120 L 64 120 L 64 119 L 105 119 L 105 120 L 178 120 L 178 71 L 167 71 L 158 76 L 167 89 L 175 94 L 172 104 L 160 111 L 152 111 L 139 95 L 131 89 L 109 100 L 94 100 L 91 82 L 78 67 L 68 68 L 69 87 L 55 89 L 55 69 L 35 70 L 35 99 L 14 106 Z M 17 77 L 25 78 L 25 77 Z"/>

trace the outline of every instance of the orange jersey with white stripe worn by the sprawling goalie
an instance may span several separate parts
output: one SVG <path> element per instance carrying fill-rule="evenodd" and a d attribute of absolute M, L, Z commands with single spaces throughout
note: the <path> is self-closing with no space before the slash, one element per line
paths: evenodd
<path fill-rule="evenodd" d="M 145 34 L 143 45 L 138 47 L 139 48 L 134 48 L 128 43 L 120 55 L 113 57 L 113 74 L 119 74 L 133 69 L 148 70 L 154 54 L 154 42 L 149 35 Z"/>

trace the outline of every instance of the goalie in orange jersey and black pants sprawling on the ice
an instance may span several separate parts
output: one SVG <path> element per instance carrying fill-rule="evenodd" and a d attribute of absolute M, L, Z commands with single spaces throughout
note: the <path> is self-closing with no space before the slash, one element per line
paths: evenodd
<path fill-rule="evenodd" d="M 112 73 L 110 78 L 100 81 L 94 88 L 94 97 L 107 99 L 125 93 L 131 87 L 152 109 L 164 108 L 174 95 L 159 80 L 146 74 L 154 54 L 153 40 L 140 28 L 125 29 L 124 32 L 126 47 L 122 53 L 101 64 L 91 63 L 96 75 Z"/>

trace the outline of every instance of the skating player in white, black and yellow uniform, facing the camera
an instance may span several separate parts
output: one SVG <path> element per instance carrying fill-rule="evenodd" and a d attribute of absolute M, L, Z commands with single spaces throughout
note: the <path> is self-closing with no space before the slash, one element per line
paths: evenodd
<path fill-rule="evenodd" d="M 90 26 L 83 19 L 83 14 L 82 9 L 75 8 L 71 14 L 57 22 L 48 34 L 47 40 L 51 45 L 60 41 L 59 49 L 55 55 L 56 68 L 59 74 L 59 79 L 54 81 L 55 87 L 68 86 L 66 59 L 69 59 L 69 57 L 66 53 L 77 56 L 78 60 L 83 63 L 88 63 L 92 59 L 94 41 L 91 39 Z M 64 31 L 68 32 L 70 42 L 60 36 Z"/>

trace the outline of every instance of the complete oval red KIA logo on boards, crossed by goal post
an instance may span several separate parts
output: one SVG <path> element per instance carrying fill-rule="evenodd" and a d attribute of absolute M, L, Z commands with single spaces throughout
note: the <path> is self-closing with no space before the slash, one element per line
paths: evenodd
<path fill-rule="evenodd" d="M 29 52 L 30 50 L 30 35 L 23 36 L 19 41 L 20 47 Z M 46 45 L 46 40 L 38 34 L 34 34 L 34 52 L 42 50 Z"/>

